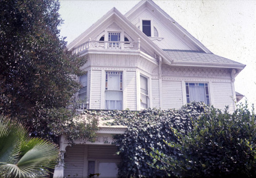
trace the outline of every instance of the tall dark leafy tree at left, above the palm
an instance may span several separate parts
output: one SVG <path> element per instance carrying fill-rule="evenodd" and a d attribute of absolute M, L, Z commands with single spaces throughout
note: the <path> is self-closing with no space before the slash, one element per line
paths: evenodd
<path fill-rule="evenodd" d="M 0 1 L 0 113 L 54 141 L 61 134 L 54 129 L 65 131 L 75 115 L 66 108 L 80 87 L 73 76 L 86 62 L 60 39 L 58 9 L 55 0 Z"/>

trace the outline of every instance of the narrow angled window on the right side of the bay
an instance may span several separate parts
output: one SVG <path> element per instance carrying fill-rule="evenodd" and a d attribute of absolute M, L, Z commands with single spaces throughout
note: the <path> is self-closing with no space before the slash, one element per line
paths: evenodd
<path fill-rule="evenodd" d="M 140 108 L 145 109 L 149 107 L 148 97 L 148 80 L 140 75 Z"/>

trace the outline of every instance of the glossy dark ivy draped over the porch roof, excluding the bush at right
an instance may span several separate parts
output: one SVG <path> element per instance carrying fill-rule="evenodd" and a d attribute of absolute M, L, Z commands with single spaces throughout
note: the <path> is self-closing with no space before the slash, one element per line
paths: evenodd
<path fill-rule="evenodd" d="M 163 140 L 176 139 L 172 128 L 180 133 L 187 133 L 192 129 L 190 118 L 198 118 L 209 112 L 210 108 L 204 104 L 191 103 L 179 110 L 145 109 L 134 111 L 88 111 L 91 114 L 101 114 L 105 119 L 114 119 L 111 125 L 126 125 L 127 131 L 123 135 L 116 135 L 118 154 L 122 157 L 119 166 L 120 177 L 163 177 L 166 171 L 158 170 L 148 163 L 153 158 L 146 154 L 151 148 L 169 154 L 177 154 L 177 150 L 167 146 Z M 146 151 L 145 151 L 146 150 Z M 159 162 L 160 164 L 160 162 Z"/>

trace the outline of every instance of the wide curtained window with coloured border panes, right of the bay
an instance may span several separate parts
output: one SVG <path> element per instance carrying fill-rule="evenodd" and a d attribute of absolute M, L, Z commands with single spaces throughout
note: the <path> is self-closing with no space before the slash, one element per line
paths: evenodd
<path fill-rule="evenodd" d="M 203 101 L 205 104 L 210 104 L 209 86 L 207 83 L 186 83 L 186 98 L 187 103 L 190 101 Z"/>

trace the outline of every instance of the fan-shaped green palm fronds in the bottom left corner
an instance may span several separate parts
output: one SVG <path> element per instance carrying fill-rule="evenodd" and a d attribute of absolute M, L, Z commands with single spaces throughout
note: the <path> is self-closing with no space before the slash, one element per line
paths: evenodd
<path fill-rule="evenodd" d="M 0 115 L 0 177 L 45 177 L 58 157 L 55 144 L 31 138 L 19 123 Z"/>

